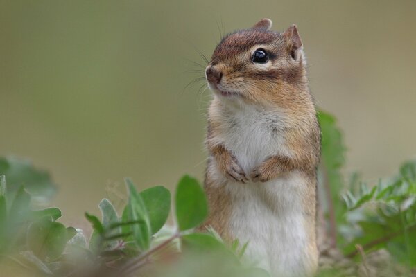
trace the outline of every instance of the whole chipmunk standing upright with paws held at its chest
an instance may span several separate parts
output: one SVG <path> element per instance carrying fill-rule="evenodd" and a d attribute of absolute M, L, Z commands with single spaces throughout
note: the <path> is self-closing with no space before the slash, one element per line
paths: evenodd
<path fill-rule="evenodd" d="M 320 126 L 297 27 L 271 26 L 262 19 L 225 36 L 205 70 L 214 99 L 203 226 L 248 242 L 245 255 L 272 276 L 311 276 Z"/>

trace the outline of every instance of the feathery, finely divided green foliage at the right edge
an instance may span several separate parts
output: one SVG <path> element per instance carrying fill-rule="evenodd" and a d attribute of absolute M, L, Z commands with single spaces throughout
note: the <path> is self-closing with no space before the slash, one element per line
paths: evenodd
<path fill-rule="evenodd" d="M 345 246 L 349 256 L 356 253 L 355 244 L 366 251 L 383 247 L 399 262 L 416 267 L 416 161 L 404 163 L 399 175 L 371 188 L 360 182 L 344 198 L 349 223 L 358 230 Z"/>

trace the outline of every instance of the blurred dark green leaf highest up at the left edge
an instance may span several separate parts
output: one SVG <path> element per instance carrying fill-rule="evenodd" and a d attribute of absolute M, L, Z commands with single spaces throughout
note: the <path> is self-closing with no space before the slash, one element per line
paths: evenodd
<path fill-rule="evenodd" d="M 40 201 L 49 200 L 56 193 L 56 186 L 49 174 L 35 169 L 30 161 L 24 159 L 0 158 L 0 175 L 6 175 L 11 197 L 22 185 Z"/>

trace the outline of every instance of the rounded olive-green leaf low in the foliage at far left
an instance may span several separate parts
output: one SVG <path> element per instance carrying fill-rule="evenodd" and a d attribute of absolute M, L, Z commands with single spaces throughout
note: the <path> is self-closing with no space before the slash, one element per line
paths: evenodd
<path fill-rule="evenodd" d="M 28 247 L 41 260 L 45 260 L 45 258 L 58 259 L 63 253 L 67 241 L 67 229 L 59 222 L 41 220 L 31 224 L 28 229 Z"/>

